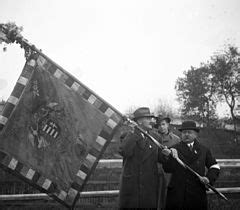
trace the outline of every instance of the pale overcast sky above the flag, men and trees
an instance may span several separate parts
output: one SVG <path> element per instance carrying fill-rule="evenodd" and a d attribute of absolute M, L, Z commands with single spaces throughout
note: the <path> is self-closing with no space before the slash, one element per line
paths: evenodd
<path fill-rule="evenodd" d="M 239 0 L 0 0 L 0 23 L 23 36 L 120 112 L 174 108 L 175 82 L 226 44 L 240 47 Z M 25 59 L 0 45 L 0 98 Z M 224 110 L 223 110 L 224 111 Z"/>

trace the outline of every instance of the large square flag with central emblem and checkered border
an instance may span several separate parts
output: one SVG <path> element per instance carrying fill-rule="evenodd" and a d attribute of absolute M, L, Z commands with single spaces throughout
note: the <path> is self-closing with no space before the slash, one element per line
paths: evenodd
<path fill-rule="evenodd" d="M 121 121 L 121 113 L 38 54 L 0 115 L 0 166 L 73 207 Z"/>

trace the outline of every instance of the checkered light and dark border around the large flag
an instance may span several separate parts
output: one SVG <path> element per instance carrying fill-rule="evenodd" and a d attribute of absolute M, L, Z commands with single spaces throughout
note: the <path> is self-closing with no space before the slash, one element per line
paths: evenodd
<path fill-rule="evenodd" d="M 47 56 L 41 54 L 35 57 L 35 59 L 30 59 L 26 62 L 24 67 L 25 71 L 20 75 L 3 108 L 2 114 L 0 115 L 0 131 L 3 131 L 5 125 L 7 125 L 8 119 L 14 112 L 28 81 L 31 79 L 33 72 L 37 69 L 38 65 L 43 66 L 46 71 L 59 79 L 67 88 L 78 93 L 89 104 L 104 114 L 108 120 L 86 155 L 85 160 L 76 174 L 75 181 L 71 183 L 71 187 L 67 192 L 62 189 L 57 189 L 57 185 L 50 179 L 44 177 L 33 168 L 24 165 L 17 160 L 16 157 L 8 155 L 2 151 L 0 151 L 0 165 L 8 172 L 20 177 L 25 182 L 36 187 L 38 190 L 47 193 L 49 196 L 70 208 L 75 205 L 79 198 L 79 192 L 83 190 L 89 176 L 95 170 L 100 157 L 105 151 L 107 145 L 111 142 L 114 129 L 120 124 L 122 115 Z"/>

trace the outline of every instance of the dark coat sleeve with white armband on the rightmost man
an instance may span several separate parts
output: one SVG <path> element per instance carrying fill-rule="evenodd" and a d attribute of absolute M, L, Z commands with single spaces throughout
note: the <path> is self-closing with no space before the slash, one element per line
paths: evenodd
<path fill-rule="evenodd" d="M 206 153 L 206 167 L 208 168 L 206 177 L 209 179 L 210 184 L 213 185 L 219 176 L 220 166 L 212 156 L 210 150 L 207 150 Z"/>

